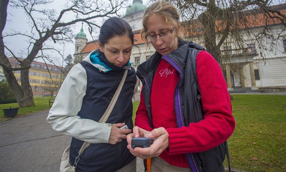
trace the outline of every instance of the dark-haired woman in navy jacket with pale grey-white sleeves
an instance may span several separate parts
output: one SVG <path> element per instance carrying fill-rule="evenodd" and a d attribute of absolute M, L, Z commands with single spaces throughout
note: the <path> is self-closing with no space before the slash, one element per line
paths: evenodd
<path fill-rule="evenodd" d="M 127 149 L 131 133 L 132 96 L 136 83 L 130 56 L 133 32 L 117 17 L 104 22 L 99 49 L 76 64 L 65 78 L 47 116 L 52 128 L 72 136 L 69 163 L 76 171 L 136 171 L 136 159 Z M 106 122 L 98 121 L 128 70 L 123 88 Z M 129 129 L 121 129 L 127 125 Z M 77 158 L 84 142 L 91 143 Z"/>

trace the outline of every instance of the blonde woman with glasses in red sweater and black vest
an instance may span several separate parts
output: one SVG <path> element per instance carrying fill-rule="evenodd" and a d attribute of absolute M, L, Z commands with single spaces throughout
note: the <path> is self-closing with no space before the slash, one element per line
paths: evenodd
<path fill-rule="evenodd" d="M 156 52 L 137 67 L 143 86 L 128 149 L 151 158 L 152 172 L 224 171 L 224 142 L 235 121 L 220 65 L 202 46 L 180 38 L 172 4 L 151 4 L 142 21 L 141 37 Z M 155 140 L 150 148 L 133 149 L 133 137 Z"/>

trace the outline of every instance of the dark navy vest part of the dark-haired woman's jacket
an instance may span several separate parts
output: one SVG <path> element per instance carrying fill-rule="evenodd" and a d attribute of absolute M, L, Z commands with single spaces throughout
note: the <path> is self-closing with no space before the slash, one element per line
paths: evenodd
<path fill-rule="evenodd" d="M 78 116 L 99 121 L 123 77 L 124 70 L 111 70 L 105 73 L 85 61 L 81 62 L 81 65 L 86 70 L 87 86 L 86 95 L 83 97 Z M 133 105 L 131 100 L 135 83 L 136 75 L 134 68 L 132 68 L 128 71 L 124 86 L 107 119 L 107 123 L 125 122 L 130 129 L 133 128 Z M 74 137 L 72 138 L 69 156 L 70 164 L 74 164 L 83 142 Z M 127 149 L 126 139 L 114 145 L 109 143 L 90 144 L 80 156 L 77 171 L 116 171 L 134 159 L 135 157 Z"/>

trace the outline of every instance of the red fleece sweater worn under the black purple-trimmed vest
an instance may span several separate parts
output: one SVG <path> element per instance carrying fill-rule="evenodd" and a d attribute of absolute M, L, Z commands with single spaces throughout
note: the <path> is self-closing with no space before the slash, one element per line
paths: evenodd
<path fill-rule="evenodd" d="M 174 166 L 188 167 L 185 153 L 209 150 L 223 143 L 233 133 L 235 121 L 222 70 L 205 51 L 197 55 L 197 78 L 201 91 L 204 119 L 177 128 L 174 91 L 179 76 L 165 60 L 161 60 L 154 76 L 151 91 L 153 127 L 164 127 L 169 134 L 169 148 L 160 157 Z M 140 95 L 135 126 L 152 131 L 145 101 Z"/>

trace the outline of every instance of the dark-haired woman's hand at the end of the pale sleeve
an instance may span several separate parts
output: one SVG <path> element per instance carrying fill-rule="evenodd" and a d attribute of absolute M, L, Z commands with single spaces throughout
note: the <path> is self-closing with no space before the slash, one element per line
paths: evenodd
<path fill-rule="evenodd" d="M 124 122 L 111 125 L 111 132 L 108 141 L 109 144 L 121 142 L 122 139 L 126 139 L 127 134 L 131 133 L 130 129 L 120 129 L 124 125 Z"/>

